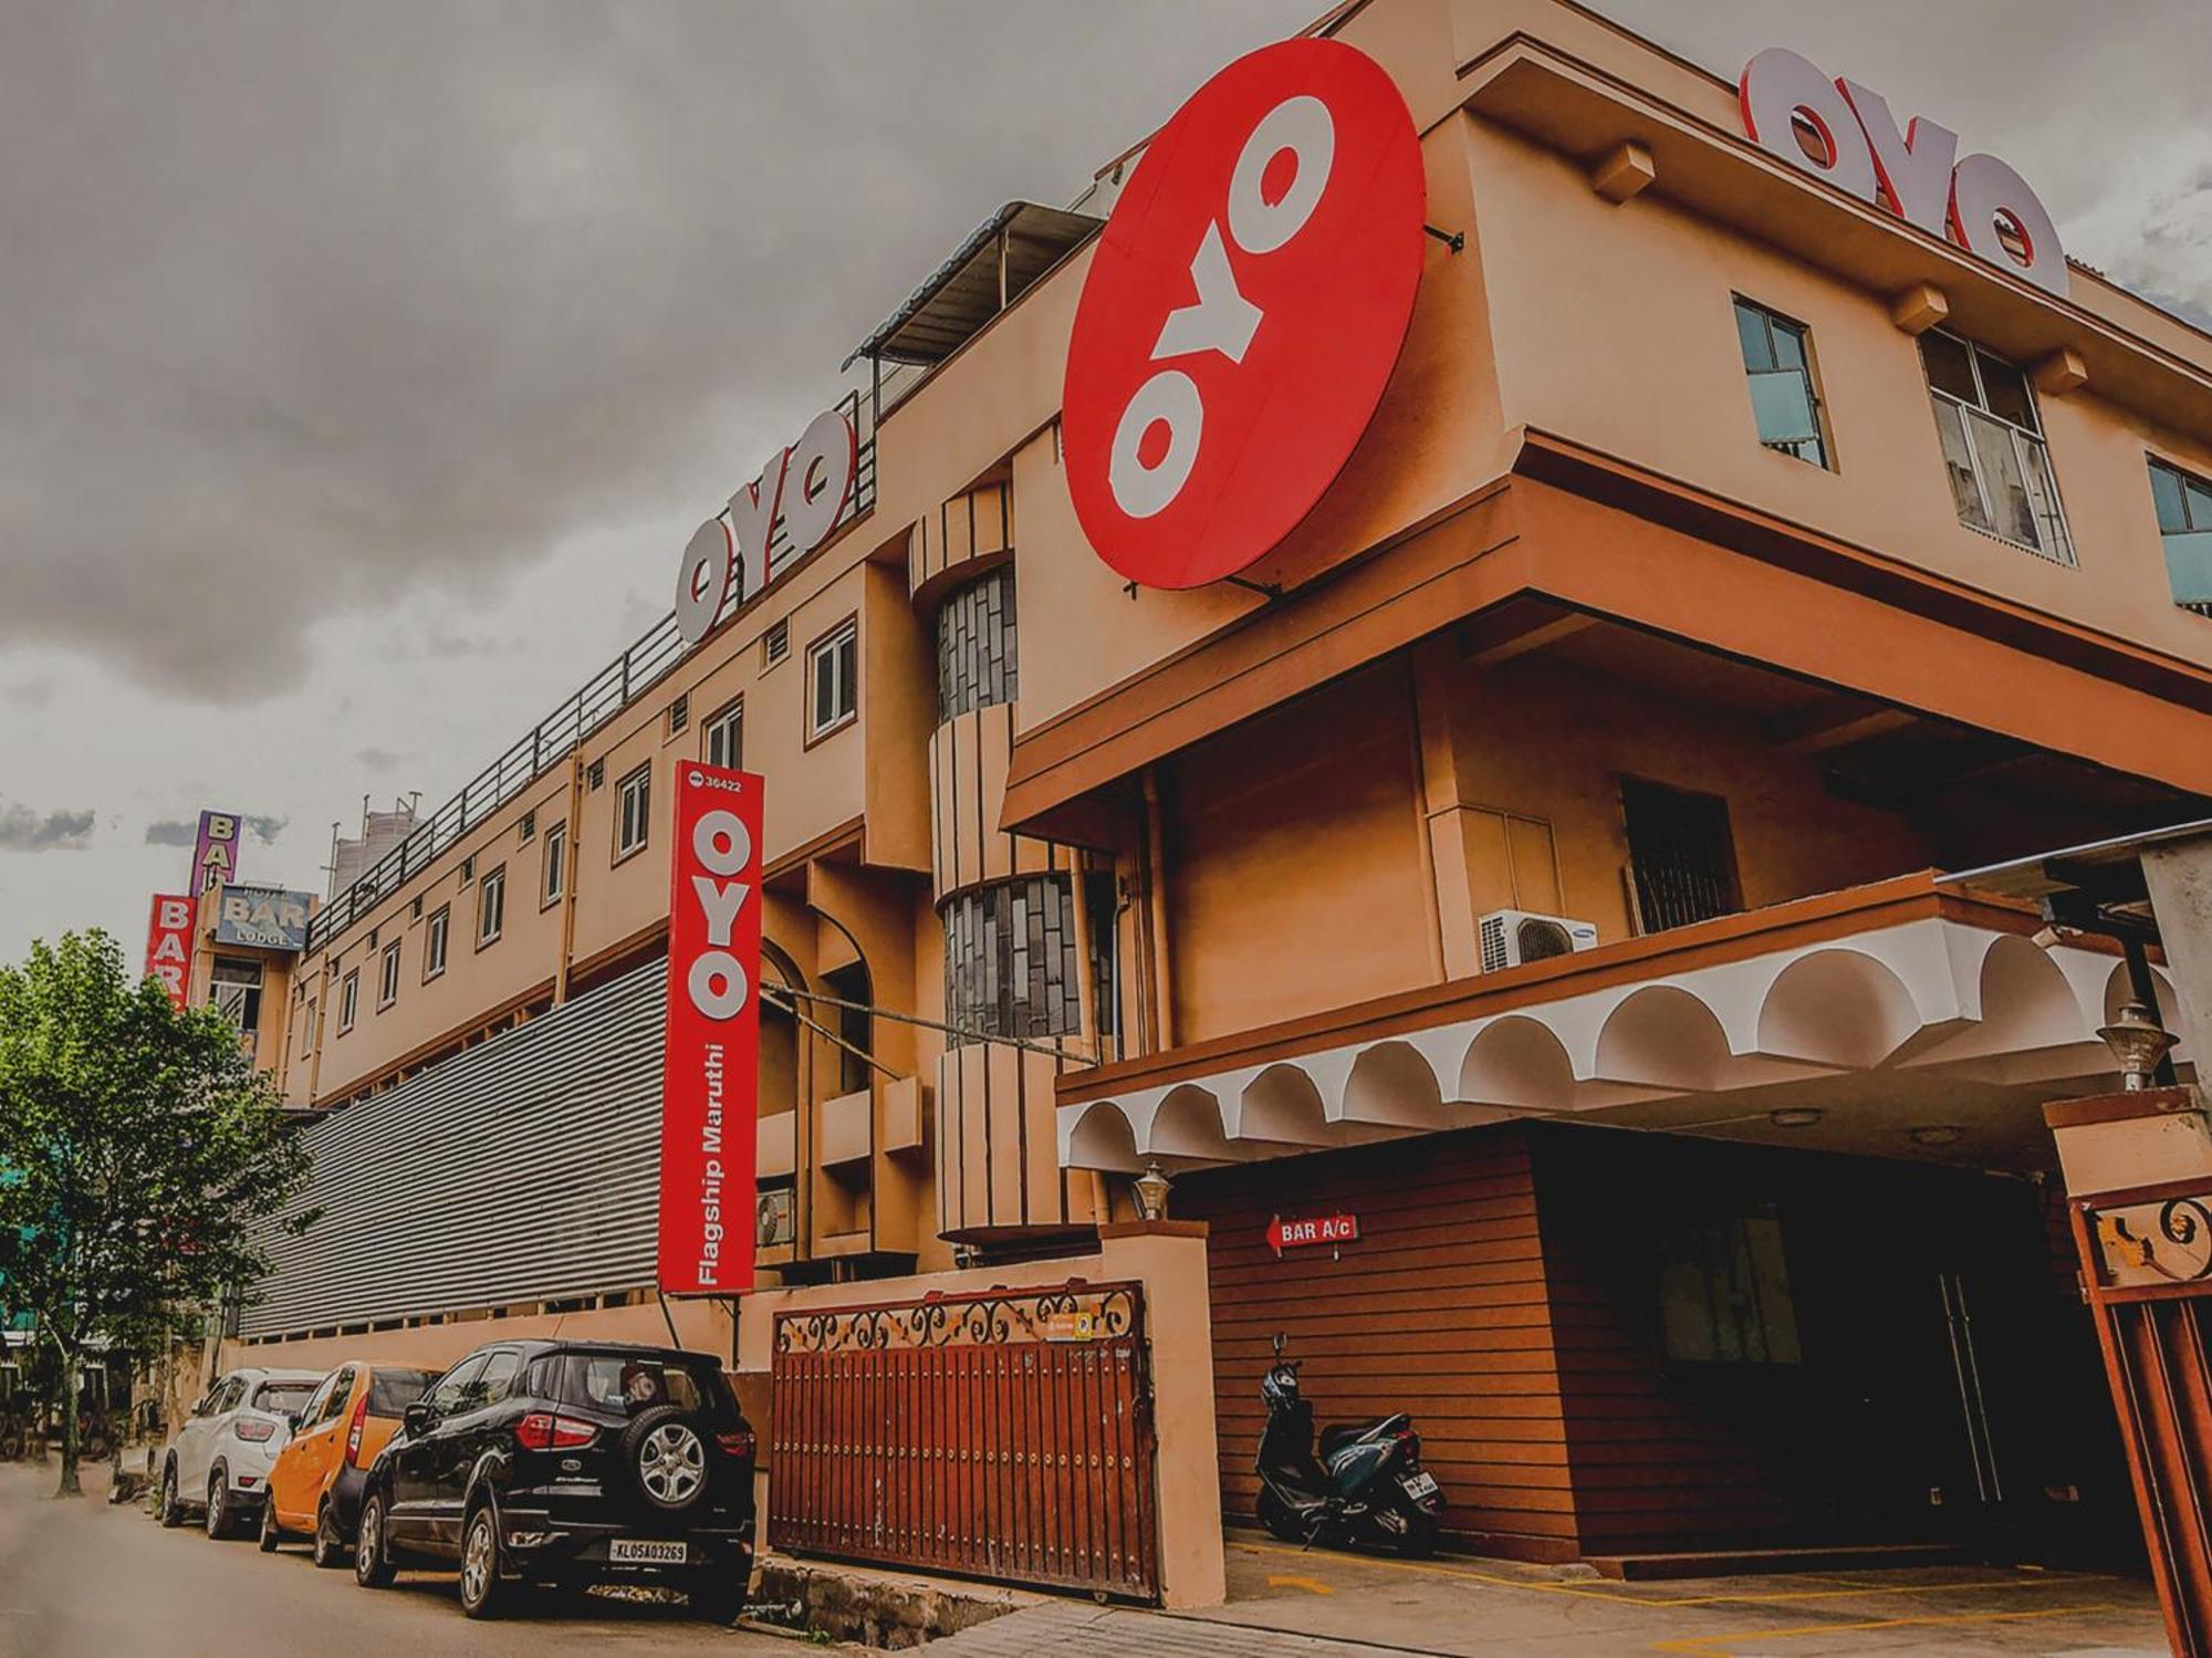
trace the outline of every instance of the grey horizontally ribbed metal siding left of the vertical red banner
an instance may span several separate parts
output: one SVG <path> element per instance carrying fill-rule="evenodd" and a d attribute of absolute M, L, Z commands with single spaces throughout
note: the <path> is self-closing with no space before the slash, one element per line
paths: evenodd
<path fill-rule="evenodd" d="M 666 964 L 307 1130 L 314 1178 L 246 1335 L 653 1280 Z"/>

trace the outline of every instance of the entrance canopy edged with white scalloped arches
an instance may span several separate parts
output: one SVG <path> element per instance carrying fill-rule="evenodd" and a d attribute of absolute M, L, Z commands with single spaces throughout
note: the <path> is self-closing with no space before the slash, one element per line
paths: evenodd
<path fill-rule="evenodd" d="M 2039 1105 L 2110 1085 L 2097 1026 L 2128 999 L 2117 955 L 2037 928 L 1920 873 L 1462 977 L 1068 1072 L 1060 1163 L 1553 1119 L 2028 1172 Z"/>

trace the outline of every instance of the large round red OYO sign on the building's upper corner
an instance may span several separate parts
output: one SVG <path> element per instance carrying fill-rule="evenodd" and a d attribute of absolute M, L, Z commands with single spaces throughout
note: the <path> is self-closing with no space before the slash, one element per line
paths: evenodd
<path fill-rule="evenodd" d="M 1106 564 L 1194 588 L 1314 508 L 1405 345 L 1425 201 L 1405 97 L 1343 42 L 1263 46 L 1175 113 L 1068 340 L 1068 491 Z"/>

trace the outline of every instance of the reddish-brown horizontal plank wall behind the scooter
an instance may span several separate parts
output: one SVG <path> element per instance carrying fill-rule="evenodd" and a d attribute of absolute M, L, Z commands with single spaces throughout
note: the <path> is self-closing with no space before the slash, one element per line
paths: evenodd
<path fill-rule="evenodd" d="M 1206 1220 L 1223 1512 L 1250 1521 L 1270 1335 L 1305 1362 L 1318 1424 L 1411 1410 L 1444 1525 L 1489 1552 L 1575 1556 L 1566 1426 L 1526 1136 L 1438 1134 L 1186 1174 Z M 1358 1242 L 1267 1249 L 1274 1216 L 1354 1211 Z"/>

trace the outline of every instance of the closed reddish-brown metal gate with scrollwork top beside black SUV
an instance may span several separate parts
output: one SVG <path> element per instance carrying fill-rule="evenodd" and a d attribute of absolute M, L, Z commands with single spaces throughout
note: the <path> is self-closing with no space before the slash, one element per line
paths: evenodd
<path fill-rule="evenodd" d="M 1137 1284 L 776 1313 L 768 1541 L 1159 1598 Z"/>

